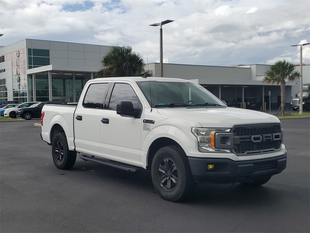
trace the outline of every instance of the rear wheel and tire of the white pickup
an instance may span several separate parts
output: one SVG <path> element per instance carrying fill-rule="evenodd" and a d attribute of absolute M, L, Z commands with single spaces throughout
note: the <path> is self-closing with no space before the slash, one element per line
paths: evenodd
<path fill-rule="evenodd" d="M 58 169 L 66 170 L 74 166 L 77 153 L 69 150 L 64 132 L 57 133 L 52 142 L 52 157 Z"/>

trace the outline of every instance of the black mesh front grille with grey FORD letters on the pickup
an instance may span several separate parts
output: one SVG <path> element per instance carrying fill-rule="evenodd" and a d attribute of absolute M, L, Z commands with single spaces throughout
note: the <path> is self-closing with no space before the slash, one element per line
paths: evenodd
<path fill-rule="evenodd" d="M 232 128 L 236 155 L 253 155 L 280 150 L 281 139 L 273 139 L 274 134 L 281 133 L 281 126 L 274 124 L 241 125 Z M 252 136 L 255 136 L 253 139 Z"/>

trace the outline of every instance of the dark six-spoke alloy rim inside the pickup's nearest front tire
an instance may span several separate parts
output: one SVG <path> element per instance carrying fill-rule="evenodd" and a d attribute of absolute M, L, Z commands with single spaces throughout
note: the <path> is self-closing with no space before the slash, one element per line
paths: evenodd
<path fill-rule="evenodd" d="M 178 168 L 170 158 L 164 158 L 158 166 L 160 185 L 167 191 L 174 190 L 178 184 Z"/>

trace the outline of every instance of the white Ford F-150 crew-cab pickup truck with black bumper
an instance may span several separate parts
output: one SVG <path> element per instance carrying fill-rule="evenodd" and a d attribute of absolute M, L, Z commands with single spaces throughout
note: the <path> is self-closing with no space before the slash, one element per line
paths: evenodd
<path fill-rule="evenodd" d="M 41 124 L 59 169 L 73 167 L 77 153 L 130 172 L 147 169 L 169 201 L 184 199 L 195 182 L 258 186 L 286 168 L 277 117 L 227 107 L 188 80 L 90 80 L 77 105 L 45 105 Z"/>

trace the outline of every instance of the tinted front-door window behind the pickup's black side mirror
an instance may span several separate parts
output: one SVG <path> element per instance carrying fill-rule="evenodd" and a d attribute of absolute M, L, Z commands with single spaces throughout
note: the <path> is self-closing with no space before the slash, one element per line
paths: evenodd
<path fill-rule="evenodd" d="M 137 108 L 139 98 L 135 94 L 131 85 L 126 83 L 116 83 L 110 98 L 109 109 L 116 111 L 116 106 L 121 101 L 131 101 L 134 108 Z"/>

